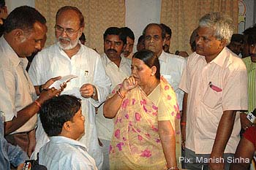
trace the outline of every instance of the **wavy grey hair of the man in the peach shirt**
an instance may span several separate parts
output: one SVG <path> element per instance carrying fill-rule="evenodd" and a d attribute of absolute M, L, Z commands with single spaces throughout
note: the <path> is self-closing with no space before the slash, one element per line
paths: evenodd
<path fill-rule="evenodd" d="M 212 28 L 214 30 L 214 36 L 219 39 L 225 39 L 226 45 L 230 44 L 230 39 L 233 35 L 234 25 L 233 20 L 227 16 L 222 15 L 219 12 L 211 12 L 204 15 L 199 20 L 200 27 Z"/>

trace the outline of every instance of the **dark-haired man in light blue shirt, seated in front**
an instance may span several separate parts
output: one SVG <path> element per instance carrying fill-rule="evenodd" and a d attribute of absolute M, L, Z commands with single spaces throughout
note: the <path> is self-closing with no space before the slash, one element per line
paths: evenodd
<path fill-rule="evenodd" d="M 97 169 L 84 144 L 77 140 L 84 134 L 85 118 L 80 99 L 62 95 L 51 98 L 39 111 L 50 142 L 39 151 L 39 164 L 48 169 Z"/>

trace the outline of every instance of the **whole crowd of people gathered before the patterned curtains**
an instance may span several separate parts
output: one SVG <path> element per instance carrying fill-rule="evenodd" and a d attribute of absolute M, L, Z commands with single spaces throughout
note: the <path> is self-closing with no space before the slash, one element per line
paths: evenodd
<path fill-rule="evenodd" d="M 163 23 L 143 29 L 136 53 L 130 28 L 109 27 L 99 55 L 84 45 L 88 23 L 77 7 L 56 12 L 50 47 L 46 22 L 28 6 L 4 18 L 0 169 L 29 159 L 47 169 L 248 169 L 256 26 L 234 34 L 227 15 L 206 14 L 190 55 L 170 53 Z"/>

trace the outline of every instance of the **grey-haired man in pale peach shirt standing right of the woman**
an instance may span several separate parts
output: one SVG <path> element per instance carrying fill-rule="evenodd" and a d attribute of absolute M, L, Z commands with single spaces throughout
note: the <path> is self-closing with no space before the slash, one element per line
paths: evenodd
<path fill-rule="evenodd" d="M 229 169 L 247 109 L 247 73 L 229 50 L 233 20 L 212 12 L 199 20 L 196 53 L 189 55 L 179 87 L 184 90 L 181 135 L 185 169 Z M 186 143 L 185 143 L 186 142 Z"/>

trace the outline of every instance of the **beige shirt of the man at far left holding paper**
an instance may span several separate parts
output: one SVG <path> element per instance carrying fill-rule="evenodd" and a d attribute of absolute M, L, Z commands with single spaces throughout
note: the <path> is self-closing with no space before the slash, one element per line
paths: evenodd
<path fill-rule="evenodd" d="M 27 59 L 19 58 L 4 36 L 0 38 L 0 61 L 0 111 L 4 112 L 4 121 L 10 121 L 37 99 L 37 94 L 26 72 Z M 36 123 L 37 114 L 12 134 L 31 131 Z"/>

